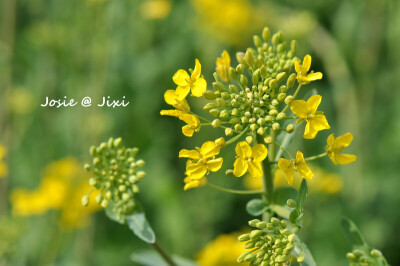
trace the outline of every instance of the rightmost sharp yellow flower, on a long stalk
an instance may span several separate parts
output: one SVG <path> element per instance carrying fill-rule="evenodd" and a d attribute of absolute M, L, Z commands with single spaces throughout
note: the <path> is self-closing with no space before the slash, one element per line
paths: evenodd
<path fill-rule="evenodd" d="M 356 155 L 353 154 L 339 154 L 350 145 L 353 141 L 353 135 L 351 133 L 346 133 L 335 139 L 333 133 L 328 137 L 328 145 L 325 147 L 325 151 L 331 158 L 332 162 L 337 164 L 349 164 L 357 159 Z"/>

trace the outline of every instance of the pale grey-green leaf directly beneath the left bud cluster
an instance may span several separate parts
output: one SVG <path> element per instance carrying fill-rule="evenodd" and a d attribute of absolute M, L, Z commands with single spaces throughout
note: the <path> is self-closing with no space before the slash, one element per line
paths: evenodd
<path fill-rule="evenodd" d="M 156 236 L 143 212 L 134 212 L 126 216 L 126 223 L 133 233 L 143 241 L 153 244 Z"/>

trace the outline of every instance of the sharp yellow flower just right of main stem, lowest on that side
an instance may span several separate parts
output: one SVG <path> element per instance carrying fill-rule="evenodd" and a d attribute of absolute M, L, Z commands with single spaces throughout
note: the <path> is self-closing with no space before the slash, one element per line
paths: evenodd
<path fill-rule="evenodd" d="M 311 180 L 314 176 L 311 169 L 307 166 L 304 160 L 303 153 L 297 151 L 295 160 L 286 160 L 280 158 L 278 161 L 278 167 L 285 173 L 286 181 L 289 185 L 293 184 L 294 172 L 298 172 L 304 179 Z"/>

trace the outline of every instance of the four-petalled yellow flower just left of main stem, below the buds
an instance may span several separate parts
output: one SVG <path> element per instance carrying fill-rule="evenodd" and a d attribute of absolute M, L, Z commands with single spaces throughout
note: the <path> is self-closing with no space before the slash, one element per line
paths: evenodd
<path fill-rule="evenodd" d="M 241 141 L 235 148 L 237 158 L 233 164 L 233 174 L 237 177 L 244 175 L 247 171 L 253 177 L 261 177 L 263 170 L 261 162 L 267 157 L 268 150 L 263 144 L 250 147 L 246 141 Z"/>

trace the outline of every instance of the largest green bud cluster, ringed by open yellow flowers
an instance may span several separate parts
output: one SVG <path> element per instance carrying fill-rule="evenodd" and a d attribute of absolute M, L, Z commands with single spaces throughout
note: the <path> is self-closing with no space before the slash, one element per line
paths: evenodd
<path fill-rule="evenodd" d="M 227 136 L 247 127 L 248 135 L 265 136 L 268 129 L 281 130 L 286 118 L 278 108 L 289 104 L 292 97 L 286 93 L 296 81 L 296 74 L 290 75 L 296 43 L 292 41 L 288 47 L 282 32 L 270 38 L 269 29 L 265 28 L 262 38 L 254 36 L 254 44 L 256 49 L 237 53 L 239 64 L 236 68 L 230 67 L 229 82 L 214 73 L 215 91 L 204 93 L 206 99 L 213 100 L 204 106 L 215 117 L 212 126 L 224 125 Z M 293 132 L 294 127 L 285 129 Z"/>

